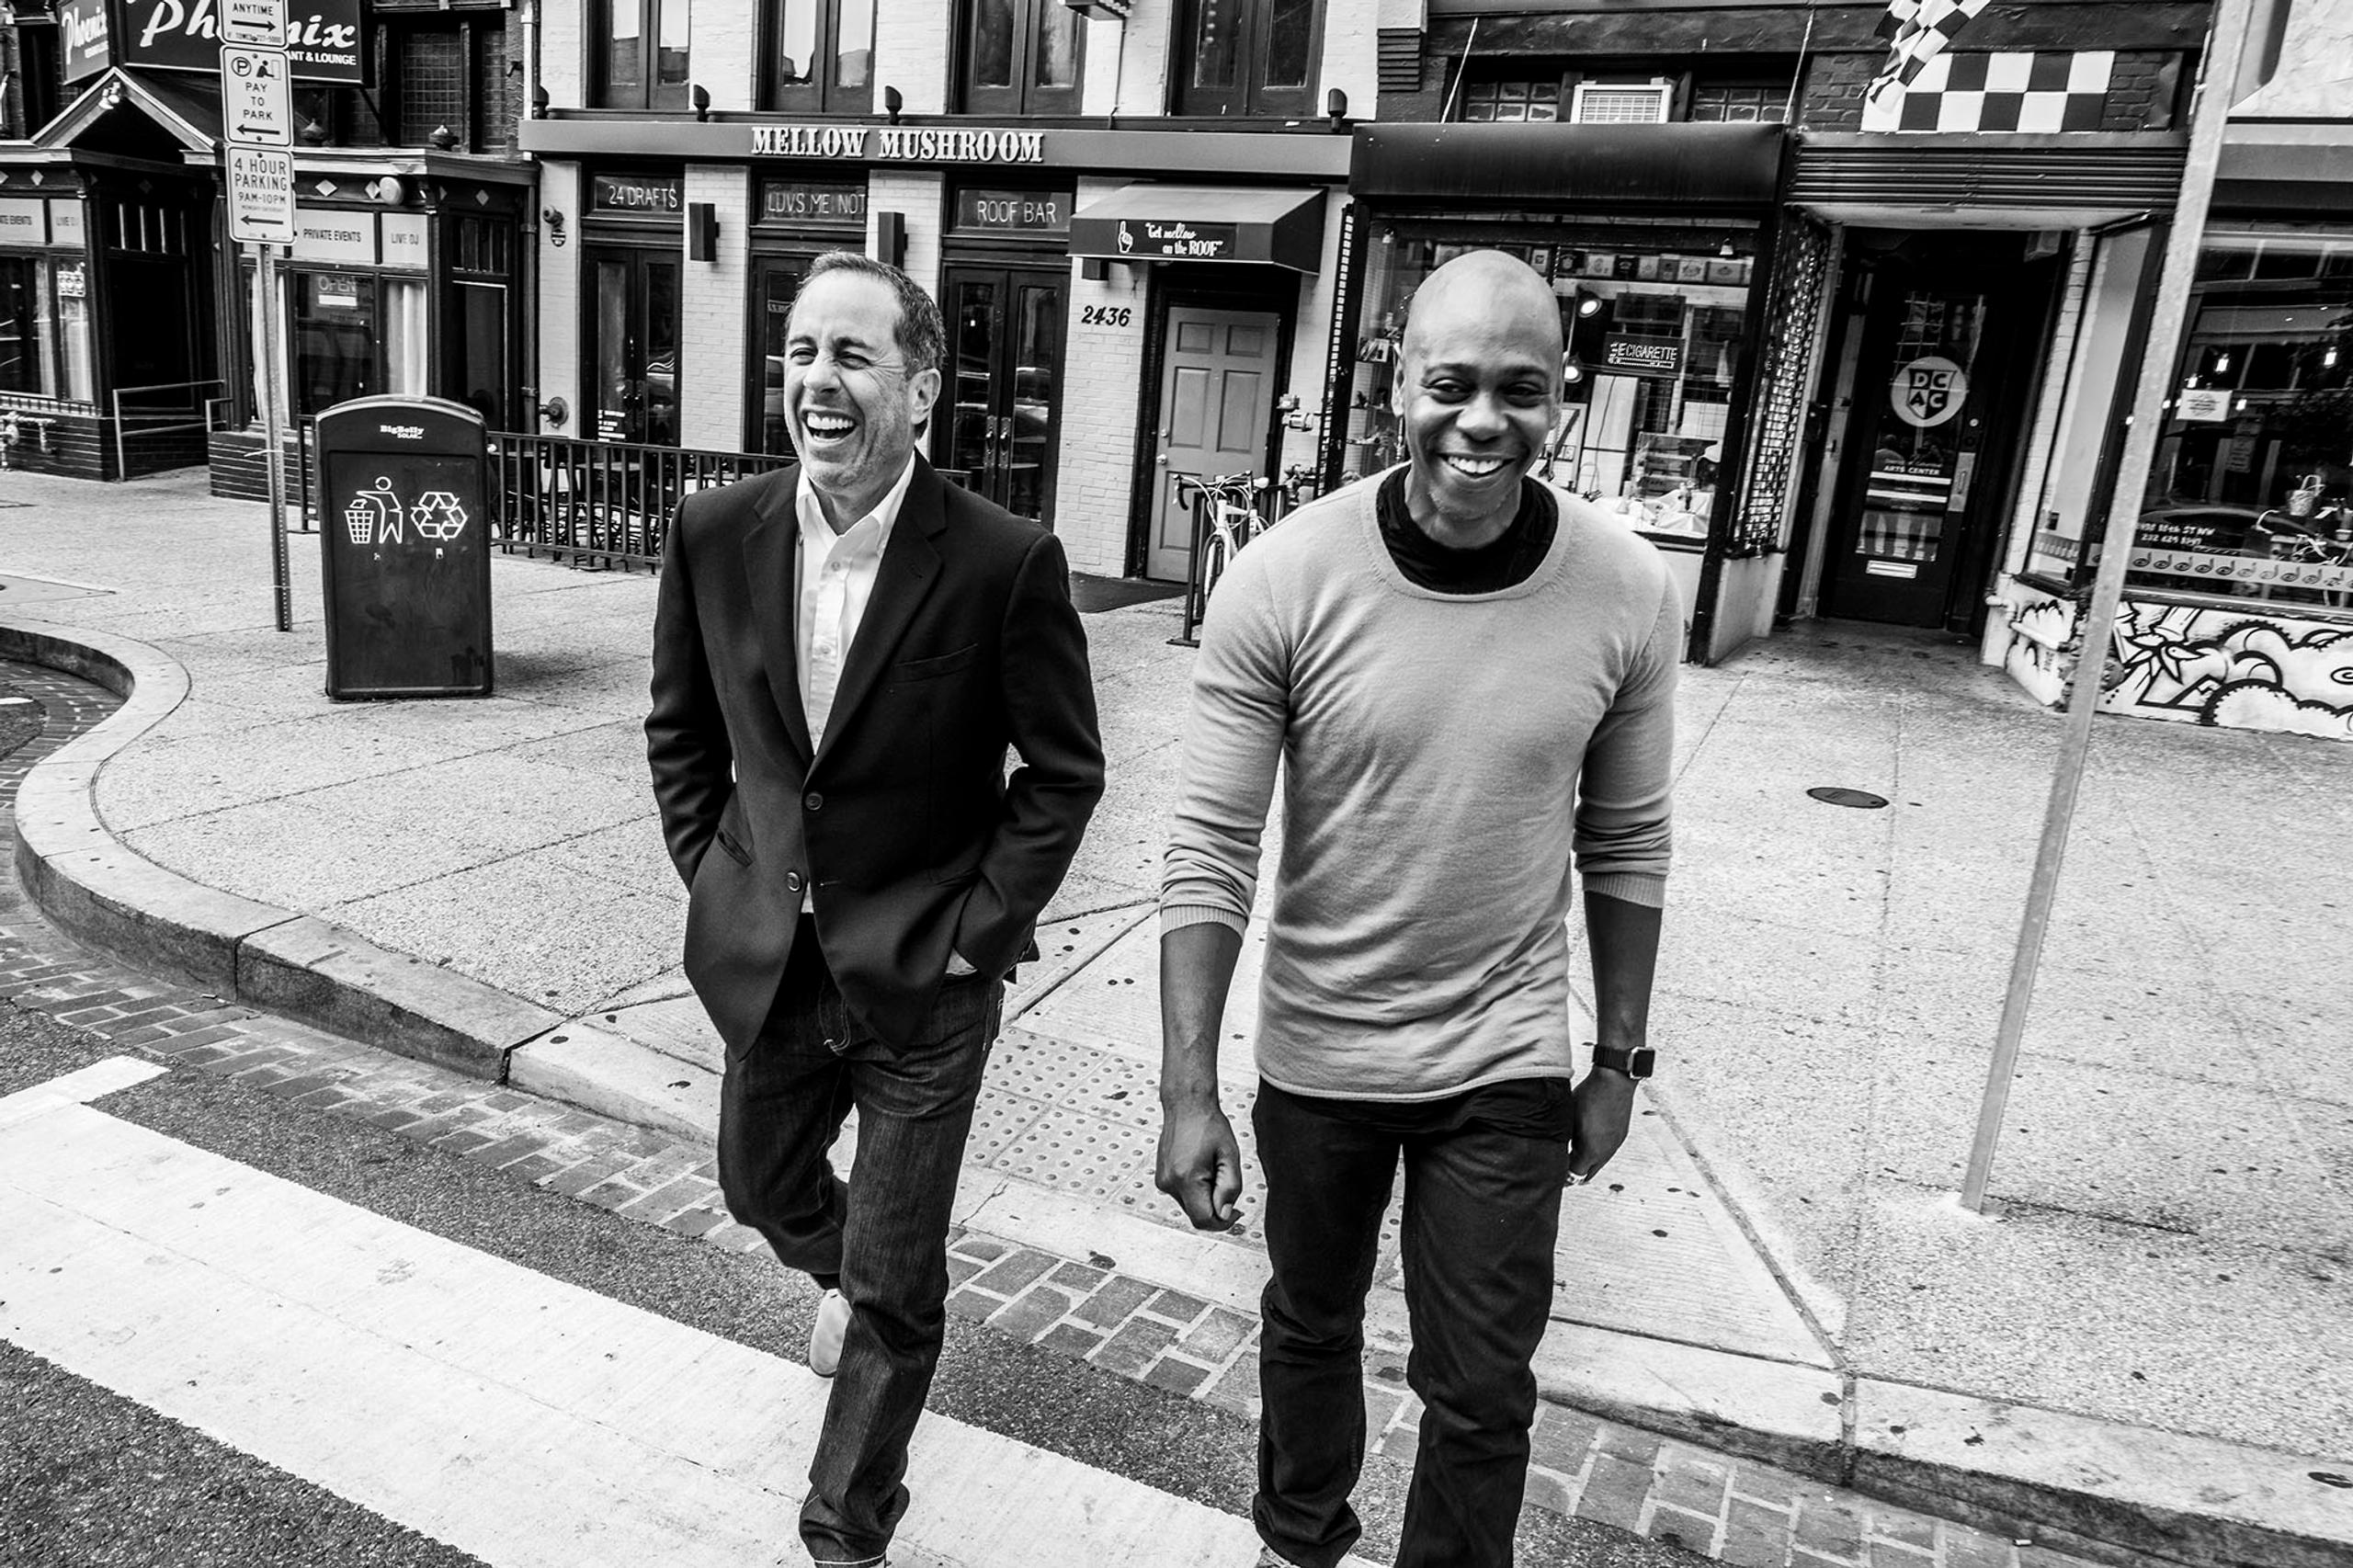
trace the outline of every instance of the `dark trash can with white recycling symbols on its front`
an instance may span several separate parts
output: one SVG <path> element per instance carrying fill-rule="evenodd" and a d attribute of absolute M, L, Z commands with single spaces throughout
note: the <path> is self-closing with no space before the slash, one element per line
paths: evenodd
<path fill-rule="evenodd" d="M 318 417 L 327 697 L 489 695 L 489 452 L 447 398 Z"/>

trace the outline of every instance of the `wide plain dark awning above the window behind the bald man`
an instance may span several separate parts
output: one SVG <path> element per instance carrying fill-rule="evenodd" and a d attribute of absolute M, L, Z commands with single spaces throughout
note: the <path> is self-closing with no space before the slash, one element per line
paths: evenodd
<path fill-rule="evenodd" d="M 1779 125 L 1360 125 L 1348 191 L 1454 207 L 1765 207 Z"/>

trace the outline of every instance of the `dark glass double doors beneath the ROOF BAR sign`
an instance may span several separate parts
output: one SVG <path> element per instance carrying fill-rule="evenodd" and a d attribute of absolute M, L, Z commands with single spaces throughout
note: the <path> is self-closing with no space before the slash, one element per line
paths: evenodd
<path fill-rule="evenodd" d="M 1064 275 L 948 268 L 948 353 L 934 464 L 1005 511 L 1054 513 Z"/>

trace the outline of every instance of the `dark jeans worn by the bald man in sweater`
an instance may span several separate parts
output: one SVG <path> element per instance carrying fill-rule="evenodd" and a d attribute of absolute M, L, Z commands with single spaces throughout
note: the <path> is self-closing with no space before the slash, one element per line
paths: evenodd
<path fill-rule="evenodd" d="M 1421 1443 L 1398 1568 L 1511 1568 L 1569 1165 L 1567 1078 L 1447 1099 L 1311 1099 L 1259 1083 L 1266 1175 L 1259 1535 L 1329 1568 L 1362 1533 L 1365 1293 L 1405 1161 L 1405 1307 Z"/>

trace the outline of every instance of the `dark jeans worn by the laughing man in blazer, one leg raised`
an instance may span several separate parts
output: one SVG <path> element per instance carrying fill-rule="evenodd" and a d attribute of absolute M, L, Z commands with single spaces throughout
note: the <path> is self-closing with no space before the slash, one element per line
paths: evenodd
<path fill-rule="evenodd" d="M 849 1333 L 800 1540 L 819 1563 L 871 1563 L 906 1514 L 906 1446 L 948 1323 L 955 1175 L 1005 986 L 944 984 L 920 1041 L 892 1052 L 852 1022 L 824 963 L 805 961 L 814 951 L 793 946 L 767 1026 L 727 1062 L 720 1187 L 786 1267 L 842 1281 Z M 826 1151 L 849 1107 L 859 1154 L 842 1182 Z"/>

